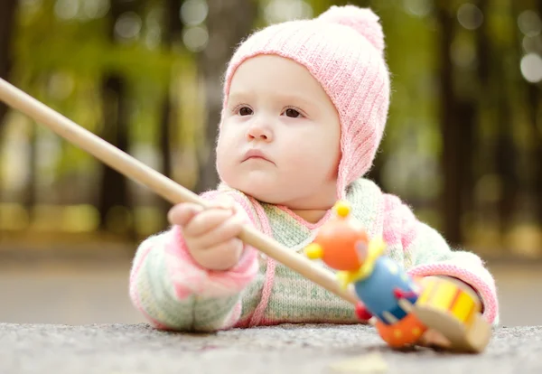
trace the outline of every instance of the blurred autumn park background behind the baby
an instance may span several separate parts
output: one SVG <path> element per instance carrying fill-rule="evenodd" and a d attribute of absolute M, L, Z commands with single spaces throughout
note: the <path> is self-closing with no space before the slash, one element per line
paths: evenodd
<path fill-rule="evenodd" d="M 1 0 L 0 77 L 202 192 L 236 44 L 347 3 L 380 16 L 393 74 L 369 177 L 487 260 L 502 323 L 542 324 L 541 1 Z M 0 322 L 143 321 L 128 271 L 168 209 L 0 104 Z"/>

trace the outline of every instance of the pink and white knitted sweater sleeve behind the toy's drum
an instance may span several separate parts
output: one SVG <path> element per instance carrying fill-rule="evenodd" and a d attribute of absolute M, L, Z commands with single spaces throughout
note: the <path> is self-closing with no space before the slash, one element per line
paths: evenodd
<path fill-rule="evenodd" d="M 405 267 L 411 276 L 452 276 L 470 285 L 480 296 L 483 316 L 497 325 L 499 304 L 495 281 L 481 257 L 450 248 L 443 236 L 417 220 L 412 210 L 394 195 L 384 195 L 384 239 L 403 249 Z"/>

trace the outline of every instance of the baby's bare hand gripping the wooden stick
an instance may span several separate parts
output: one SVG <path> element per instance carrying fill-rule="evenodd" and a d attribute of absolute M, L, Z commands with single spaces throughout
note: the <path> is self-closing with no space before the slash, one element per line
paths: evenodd
<path fill-rule="evenodd" d="M 229 201 L 215 202 L 209 209 L 186 202 L 168 213 L 168 220 L 181 227 L 194 260 L 210 270 L 227 270 L 238 263 L 243 242 L 237 237 L 246 217 Z"/>

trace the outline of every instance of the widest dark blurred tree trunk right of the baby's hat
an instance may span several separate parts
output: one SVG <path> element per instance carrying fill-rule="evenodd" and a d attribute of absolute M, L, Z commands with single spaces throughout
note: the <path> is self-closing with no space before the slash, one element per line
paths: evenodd
<path fill-rule="evenodd" d="M 480 2 L 483 8 L 483 0 Z M 455 14 L 456 7 L 447 1 L 439 1 L 436 18 L 440 25 L 439 40 L 439 87 L 440 126 L 443 139 L 443 233 L 454 246 L 464 240 L 462 220 L 472 205 L 475 149 L 475 129 L 478 108 L 478 79 L 468 69 L 460 70 L 453 61 L 453 51 L 460 43 L 471 43 L 470 38 L 459 38 L 460 30 Z M 463 46 L 463 48 L 465 48 Z M 483 51 L 482 51 L 483 52 Z M 481 69 L 485 69 L 483 64 Z"/>

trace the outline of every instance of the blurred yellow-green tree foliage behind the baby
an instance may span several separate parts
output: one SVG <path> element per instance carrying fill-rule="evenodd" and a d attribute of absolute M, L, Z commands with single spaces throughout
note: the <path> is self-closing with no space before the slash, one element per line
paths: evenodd
<path fill-rule="evenodd" d="M 72 1 L 83 6 L 94 0 Z M 95 1 L 99 6 L 108 4 L 108 0 Z M 266 11 L 274 0 L 248 1 L 258 3 L 259 14 L 254 27 L 266 25 Z M 283 0 L 281 4 L 297 1 Z M 173 45 L 164 45 L 161 40 L 167 15 L 164 14 L 164 0 L 140 2 L 143 6 L 137 14 L 141 23 L 138 32 L 132 37 L 117 37 L 110 42 L 107 35 L 110 20 L 105 12 L 91 17 L 81 15 L 79 10 L 73 17 L 64 14 L 61 18 L 58 0 L 21 1 L 14 33 L 12 79 L 18 87 L 46 105 L 99 134 L 104 123 L 102 80 L 109 73 L 120 74 L 128 86 L 130 145 L 137 149 L 152 148 L 152 157 L 156 158 L 161 156 L 157 144 L 164 100 L 171 100 L 173 110 L 168 118 L 173 136 L 173 164 L 181 164 L 175 157 L 182 157 L 182 162 L 190 164 L 183 165 L 182 171 L 177 173 L 182 174 L 184 180 L 192 181 L 195 178 L 187 174 L 193 173 L 194 154 L 203 143 L 206 110 L 197 55 L 185 51 L 182 35 L 176 35 Z M 524 9 L 537 11 L 537 2 L 487 1 L 483 22 L 475 29 L 460 24 L 458 12 L 467 3 L 482 6 L 483 2 L 304 0 L 303 9 L 306 11 L 306 6 L 310 6 L 310 13 L 315 16 L 331 5 L 347 3 L 371 6 L 380 16 L 386 36 L 392 97 L 386 134 L 378 154 L 385 190 L 397 192 L 406 201 L 416 201 L 423 207 L 420 211 L 428 220 L 442 220 L 442 214 L 435 209 L 435 201 L 444 182 L 439 166 L 445 140 L 441 135 L 440 120 L 444 99 L 473 103 L 476 110 L 477 153 L 476 159 L 472 160 L 472 173 L 475 174 L 474 183 L 478 183 L 478 192 L 472 192 L 474 203 L 480 196 L 481 204 L 485 203 L 480 185 L 495 179 L 487 178 L 486 174 L 494 173 L 495 165 L 491 163 L 497 154 L 495 141 L 502 131 L 512 137 L 520 154 L 520 161 L 515 165 L 522 181 L 534 178 L 529 173 L 533 173 L 533 165 L 537 163 L 534 157 L 536 152 L 540 154 L 537 149 L 542 143 L 539 140 L 542 138 L 540 98 L 539 93 L 533 94 L 529 90 L 532 86 L 526 83 L 519 69 L 525 51 L 521 44 L 523 35 L 518 29 L 518 14 Z M 450 51 L 442 50 L 443 30 L 437 21 L 439 11 L 444 11 L 453 23 Z M 478 66 L 481 56 L 477 38 L 481 33 L 487 35 L 485 42 L 490 61 L 487 86 L 483 86 Z M 533 41 L 538 45 L 537 52 L 542 53 L 540 35 L 534 36 Z M 453 62 L 453 98 L 439 95 L 442 59 Z M 538 95 L 535 98 L 537 108 L 531 108 L 528 101 L 533 99 L 532 95 Z M 502 126 L 504 107 L 510 115 L 509 126 Z M 12 119 L 8 126 L 20 126 L 21 122 Z M 36 134 L 41 138 L 47 131 L 40 129 Z M 28 139 L 32 134 L 28 131 Z M 43 162 L 41 170 L 54 173 L 57 184 L 74 175 L 84 177 L 95 173 L 98 163 L 91 155 L 64 141 L 51 145 L 54 146 L 58 147 L 56 151 L 60 155 L 46 157 L 51 160 L 50 164 Z M 10 155 L 0 156 L 0 162 L 10 162 Z M 468 167 L 465 166 L 465 170 L 469 170 Z M 528 187 L 522 188 L 528 191 Z M 20 196 L 17 193 L 14 195 Z M 145 201 L 143 204 L 148 203 L 148 195 L 137 193 L 138 199 Z M 81 200 L 90 199 L 86 196 Z M 495 210 L 498 201 L 491 201 L 493 205 L 488 210 Z M 144 222 L 140 223 L 143 226 L 146 225 L 145 214 L 141 213 L 136 219 Z M 474 216 L 470 212 L 466 214 L 471 218 Z"/>

